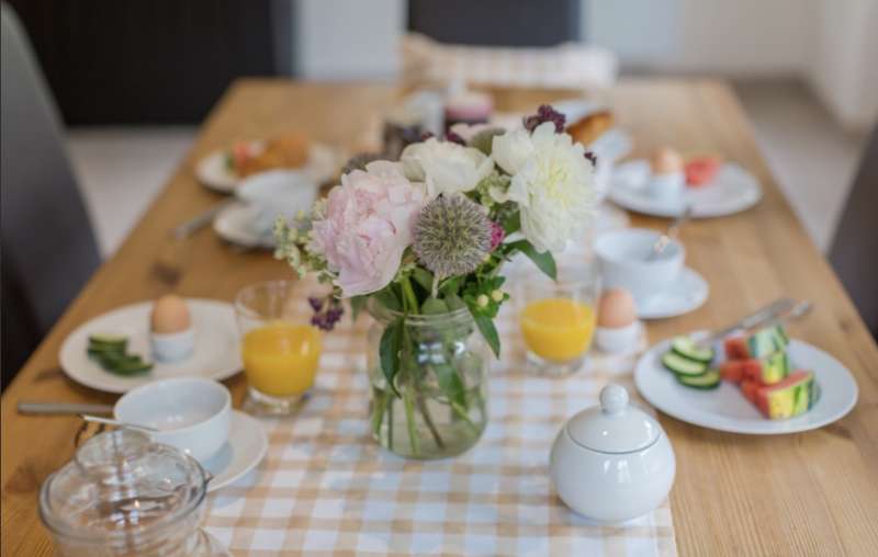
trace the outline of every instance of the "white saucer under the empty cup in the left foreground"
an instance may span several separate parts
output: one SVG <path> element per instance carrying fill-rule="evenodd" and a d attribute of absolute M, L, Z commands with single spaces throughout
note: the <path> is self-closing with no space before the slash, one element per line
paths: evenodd
<path fill-rule="evenodd" d="M 239 410 L 232 411 L 228 443 L 223 445 L 204 468 L 213 474 L 207 492 L 216 491 L 240 479 L 256 468 L 268 453 L 268 435 L 259 420 Z"/>

